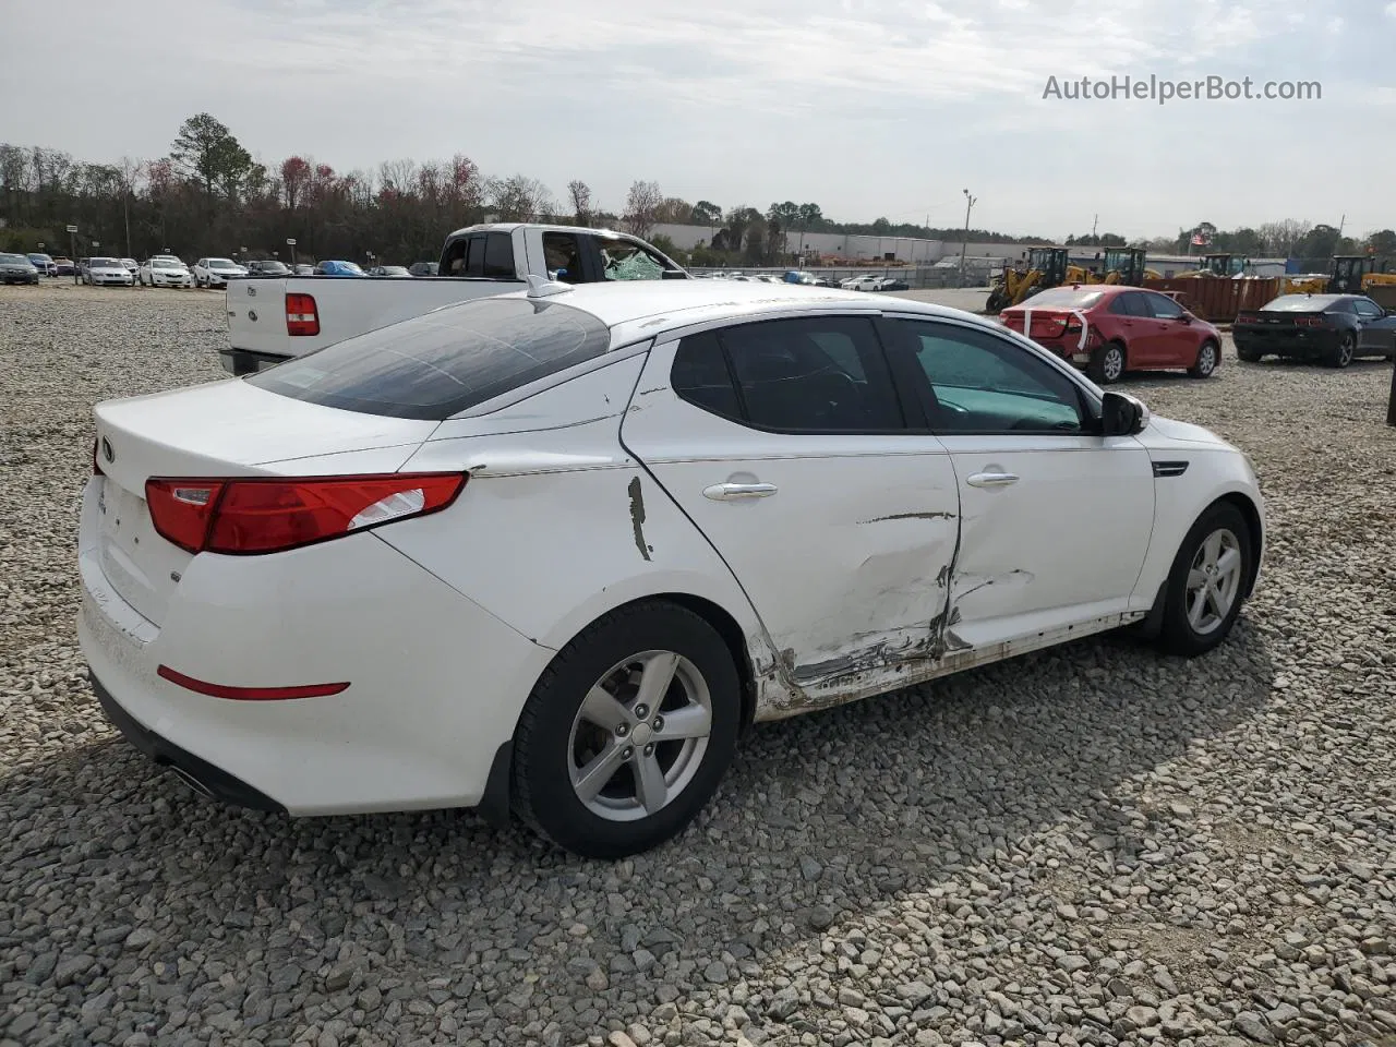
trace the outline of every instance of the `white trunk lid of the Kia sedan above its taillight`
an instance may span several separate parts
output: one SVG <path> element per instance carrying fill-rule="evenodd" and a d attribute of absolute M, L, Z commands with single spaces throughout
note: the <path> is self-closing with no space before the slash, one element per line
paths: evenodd
<path fill-rule="evenodd" d="M 391 472 L 438 424 L 324 408 L 237 380 L 107 401 L 94 416 L 98 558 L 112 588 L 156 625 L 193 556 L 155 530 L 149 477 L 369 472 L 353 452 L 373 451 L 371 470 Z"/>

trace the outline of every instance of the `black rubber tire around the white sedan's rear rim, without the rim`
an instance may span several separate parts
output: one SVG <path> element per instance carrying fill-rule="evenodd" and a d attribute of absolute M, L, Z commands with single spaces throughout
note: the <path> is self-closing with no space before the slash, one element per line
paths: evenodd
<path fill-rule="evenodd" d="M 574 789 L 574 747 L 578 744 L 574 732 L 581 723 L 584 698 L 611 678 L 613 667 L 656 651 L 678 655 L 699 674 L 711 702 L 711 729 L 706 747 L 691 757 L 697 759 L 697 769 L 677 796 L 669 797 L 653 814 L 618 821 L 593 811 Z M 676 678 L 676 683 L 683 681 Z M 678 692 L 683 690 L 677 687 Z M 674 688 L 666 694 L 674 695 Z M 627 708 L 634 712 L 637 702 L 631 701 Z M 663 708 L 669 708 L 667 702 Z M 614 860 L 649 850 L 680 833 L 716 792 L 736 751 L 740 722 L 741 681 L 732 652 L 712 625 L 684 607 L 659 600 L 614 610 L 557 653 L 524 705 L 514 734 L 514 812 L 557 846 L 582 857 Z M 638 729 L 631 730 L 638 738 Z M 602 736 L 606 745 L 616 744 L 604 732 Z M 684 743 L 666 744 L 683 747 Z M 660 764 L 664 757 L 664 752 L 656 754 Z M 673 773 L 681 758 L 674 757 L 666 773 Z M 635 793 L 634 799 L 621 796 L 616 803 L 638 800 L 638 778 L 632 769 L 637 765 L 621 764 L 606 778 L 607 789 L 616 786 L 624 793 L 628 783 Z"/>

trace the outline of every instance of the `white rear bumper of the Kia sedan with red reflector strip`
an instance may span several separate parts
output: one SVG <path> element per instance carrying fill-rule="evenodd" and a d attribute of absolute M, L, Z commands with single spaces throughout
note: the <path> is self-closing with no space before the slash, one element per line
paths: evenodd
<path fill-rule="evenodd" d="M 553 653 L 364 533 L 267 557 L 200 554 L 162 623 L 114 588 L 84 496 L 78 642 L 98 699 L 141 751 L 221 800 L 292 815 L 476 807 Z M 289 701 L 233 687 L 349 681 Z"/>

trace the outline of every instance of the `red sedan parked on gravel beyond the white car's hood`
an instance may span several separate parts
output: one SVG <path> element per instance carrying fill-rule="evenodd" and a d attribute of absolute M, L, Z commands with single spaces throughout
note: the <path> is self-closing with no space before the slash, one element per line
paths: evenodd
<path fill-rule="evenodd" d="M 998 314 L 1099 384 L 1125 371 L 1184 369 L 1206 378 L 1222 363 L 1222 334 L 1167 295 L 1122 285 L 1072 285 L 1033 295 Z M 1032 329 L 1025 331 L 1023 325 Z"/>

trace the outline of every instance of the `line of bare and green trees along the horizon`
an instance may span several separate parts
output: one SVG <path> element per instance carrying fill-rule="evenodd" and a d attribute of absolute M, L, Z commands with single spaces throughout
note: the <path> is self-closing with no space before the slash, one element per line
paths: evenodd
<path fill-rule="evenodd" d="M 959 242 L 963 229 L 935 228 L 878 218 L 835 222 L 814 202 L 748 204 L 723 208 L 709 200 L 669 197 L 655 181 L 637 180 L 620 209 L 607 209 L 582 180 L 568 183 L 561 198 L 526 174 L 489 176 L 466 155 L 417 162 L 388 161 L 374 170 L 336 172 L 313 156 L 288 156 L 268 166 L 209 113 L 188 117 L 168 156 L 123 156 L 112 163 L 74 161 L 59 149 L 0 144 L 0 248 L 68 250 L 66 228 L 78 226 L 75 250 L 144 258 L 173 251 L 186 258 L 248 255 L 289 260 L 288 239 L 299 258 L 374 258 L 408 264 L 437 257 L 444 236 L 482 221 L 567 222 L 623 228 L 692 265 L 772 265 L 803 257 L 807 233 L 926 237 Z M 692 251 L 680 251 L 656 232 L 666 223 L 706 226 L 709 236 Z M 1202 235 L 1209 247 L 1191 247 Z M 1051 243 L 972 229 L 976 243 Z M 1068 246 L 1139 246 L 1164 253 L 1231 251 L 1234 254 L 1326 257 L 1396 254 L 1396 232 L 1383 229 L 1362 240 L 1329 225 L 1284 221 L 1259 228 L 1219 230 L 1201 222 L 1177 237 L 1127 240 L 1114 233 L 1068 237 Z"/>

